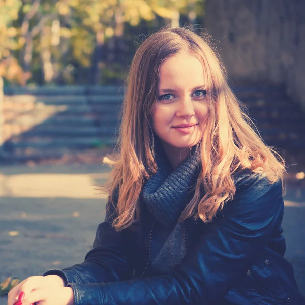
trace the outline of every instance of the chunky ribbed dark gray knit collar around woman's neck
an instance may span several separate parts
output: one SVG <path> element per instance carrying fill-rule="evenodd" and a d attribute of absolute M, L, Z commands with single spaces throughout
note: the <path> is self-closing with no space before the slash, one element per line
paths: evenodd
<path fill-rule="evenodd" d="M 173 172 L 164 150 L 157 147 L 157 173 L 144 185 L 142 198 L 154 217 L 166 226 L 177 223 L 185 209 L 190 187 L 196 183 L 200 169 L 200 157 L 192 149 L 188 158 Z"/>

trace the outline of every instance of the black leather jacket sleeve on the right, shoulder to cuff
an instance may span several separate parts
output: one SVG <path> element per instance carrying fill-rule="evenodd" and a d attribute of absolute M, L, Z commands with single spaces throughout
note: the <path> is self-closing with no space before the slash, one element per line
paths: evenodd
<path fill-rule="evenodd" d="M 117 283 L 69 283 L 75 304 L 219 304 L 245 276 L 283 215 L 280 181 L 246 176 L 236 189 L 217 219 L 202 223 L 196 244 L 173 271 Z"/>

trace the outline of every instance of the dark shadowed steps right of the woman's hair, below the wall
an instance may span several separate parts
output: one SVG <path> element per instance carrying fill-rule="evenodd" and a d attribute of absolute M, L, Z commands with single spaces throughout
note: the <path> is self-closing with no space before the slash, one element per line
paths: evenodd
<path fill-rule="evenodd" d="M 269 146 L 284 150 L 305 149 L 305 113 L 282 88 L 247 88 L 234 90 Z"/>

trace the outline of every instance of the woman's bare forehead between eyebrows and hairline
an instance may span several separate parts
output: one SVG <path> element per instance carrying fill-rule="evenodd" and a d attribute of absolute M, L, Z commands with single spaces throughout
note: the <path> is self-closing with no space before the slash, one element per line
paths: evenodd
<path fill-rule="evenodd" d="M 193 88 L 203 85 L 203 66 L 197 56 L 182 53 L 167 58 L 159 69 L 159 89 L 181 87 Z"/>

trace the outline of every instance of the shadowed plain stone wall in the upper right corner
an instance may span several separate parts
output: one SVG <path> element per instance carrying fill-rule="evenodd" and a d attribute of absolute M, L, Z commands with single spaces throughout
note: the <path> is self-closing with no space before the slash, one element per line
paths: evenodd
<path fill-rule="evenodd" d="M 284 85 L 305 110 L 304 0 L 206 0 L 205 27 L 233 82 Z"/>

